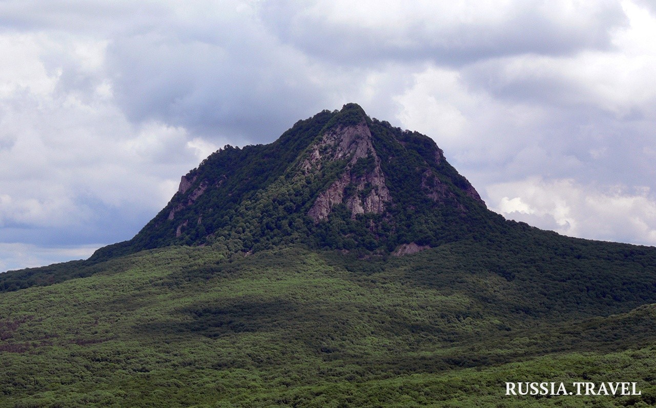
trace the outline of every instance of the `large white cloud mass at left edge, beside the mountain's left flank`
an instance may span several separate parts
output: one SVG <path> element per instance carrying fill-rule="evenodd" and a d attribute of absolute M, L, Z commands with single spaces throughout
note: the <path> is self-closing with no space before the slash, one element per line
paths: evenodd
<path fill-rule="evenodd" d="M 129 238 L 211 143 L 130 122 L 104 72 L 106 41 L 0 35 L 0 55 L 16 49 L 20 67 L 0 73 L 0 241 Z"/>

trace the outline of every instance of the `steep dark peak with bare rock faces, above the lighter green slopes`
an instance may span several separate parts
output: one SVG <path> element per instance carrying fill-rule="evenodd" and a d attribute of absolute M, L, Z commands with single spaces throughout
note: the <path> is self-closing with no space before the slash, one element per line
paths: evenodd
<path fill-rule="evenodd" d="M 173 244 L 257 251 L 291 242 L 391 253 L 502 222 L 432 139 L 347 103 L 298 121 L 269 145 L 226 145 L 181 177 L 169 204 L 132 240 L 93 257 Z"/>

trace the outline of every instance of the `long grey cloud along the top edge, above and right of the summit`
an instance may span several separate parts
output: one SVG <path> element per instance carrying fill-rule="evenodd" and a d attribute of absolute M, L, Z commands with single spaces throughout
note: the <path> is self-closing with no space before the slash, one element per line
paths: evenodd
<path fill-rule="evenodd" d="M 269 1 L 262 20 L 283 41 L 340 65 L 389 60 L 462 65 L 514 54 L 611 47 L 626 24 L 617 1 L 407 3 Z"/>

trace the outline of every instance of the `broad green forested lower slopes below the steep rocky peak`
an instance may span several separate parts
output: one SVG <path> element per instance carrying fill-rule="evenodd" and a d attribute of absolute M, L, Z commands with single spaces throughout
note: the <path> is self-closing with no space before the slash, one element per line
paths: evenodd
<path fill-rule="evenodd" d="M 651 406 L 654 249 L 531 231 L 401 258 L 169 247 L 6 292 L 0 407 Z M 643 395 L 503 395 L 583 379 Z"/>

